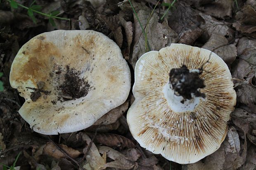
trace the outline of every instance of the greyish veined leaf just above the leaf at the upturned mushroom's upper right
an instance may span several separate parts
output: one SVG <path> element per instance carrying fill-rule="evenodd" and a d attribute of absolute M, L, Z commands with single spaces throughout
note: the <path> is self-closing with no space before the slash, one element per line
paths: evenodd
<path fill-rule="evenodd" d="M 232 30 L 229 26 L 227 26 L 225 23 L 220 22 L 216 20 L 215 18 L 199 13 L 199 15 L 204 20 L 203 23 L 199 26 L 202 30 L 204 30 L 203 37 L 206 38 L 206 40 L 211 37 L 213 34 L 220 34 L 225 36 L 228 41 L 234 39 L 234 30 Z"/>

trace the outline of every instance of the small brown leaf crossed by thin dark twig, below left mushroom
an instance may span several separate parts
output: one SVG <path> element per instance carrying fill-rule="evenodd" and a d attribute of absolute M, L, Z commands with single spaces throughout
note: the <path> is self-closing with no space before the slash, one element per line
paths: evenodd
<path fill-rule="evenodd" d="M 80 154 L 82 154 L 80 151 L 70 148 L 65 144 L 59 144 L 59 147 L 61 147 L 72 158 L 76 158 Z M 43 149 L 43 154 L 47 154 L 57 159 L 66 157 L 65 154 L 62 151 L 60 151 L 52 142 L 46 143 Z"/>

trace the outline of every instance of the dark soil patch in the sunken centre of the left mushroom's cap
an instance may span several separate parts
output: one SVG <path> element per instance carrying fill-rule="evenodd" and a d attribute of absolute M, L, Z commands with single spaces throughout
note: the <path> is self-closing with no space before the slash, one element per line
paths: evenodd
<path fill-rule="evenodd" d="M 61 97 L 65 101 L 81 98 L 88 94 L 90 85 L 84 78 L 81 79 L 79 77 L 80 74 L 80 71 L 74 68 L 70 69 L 69 65 L 66 66 L 66 74 L 64 75 L 65 81 L 59 86 L 61 89 Z"/>

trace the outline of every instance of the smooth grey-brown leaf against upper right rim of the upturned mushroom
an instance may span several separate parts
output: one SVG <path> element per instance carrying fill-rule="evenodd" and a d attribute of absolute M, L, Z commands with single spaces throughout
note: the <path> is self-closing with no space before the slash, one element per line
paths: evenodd
<path fill-rule="evenodd" d="M 229 44 L 228 40 L 219 34 L 212 34 L 208 42 L 204 44 L 203 49 L 209 49 L 222 58 L 225 63 L 231 64 L 237 56 L 237 48 L 234 44 Z"/>

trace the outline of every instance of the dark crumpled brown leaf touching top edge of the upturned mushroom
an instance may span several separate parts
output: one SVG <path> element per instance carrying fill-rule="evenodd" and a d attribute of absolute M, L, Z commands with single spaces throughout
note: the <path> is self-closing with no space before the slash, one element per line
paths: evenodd
<path fill-rule="evenodd" d="M 198 27 L 198 12 L 183 2 L 176 8 L 168 19 L 169 26 L 178 33 L 178 43 L 191 45 L 203 32 Z"/>

